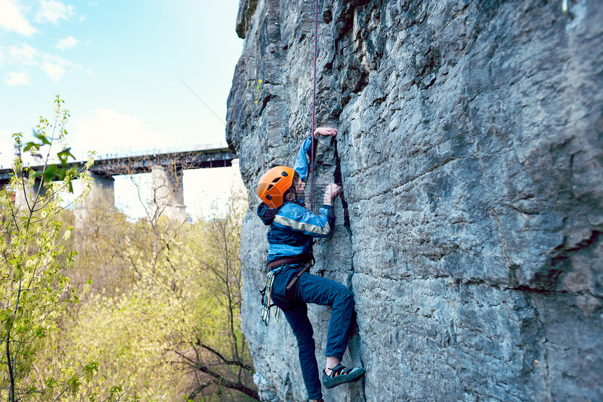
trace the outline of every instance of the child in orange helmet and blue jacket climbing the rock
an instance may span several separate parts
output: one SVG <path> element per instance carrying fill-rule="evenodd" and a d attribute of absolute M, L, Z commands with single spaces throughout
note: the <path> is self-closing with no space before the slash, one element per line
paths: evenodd
<path fill-rule="evenodd" d="M 270 226 L 267 235 L 268 267 L 275 273 L 271 298 L 283 310 L 297 338 L 299 364 L 312 401 L 321 401 L 323 394 L 307 303 L 332 307 L 325 350 L 327 362 L 323 370 L 325 388 L 358 381 L 365 373 L 364 368 L 341 365 L 341 357 L 348 344 L 353 294 L 341 283 L 308 272 L 313 264 L 313 238 L 327 237 L 332 233 L 335 223 L 333 201 L 341 192 L 341 187 L 334 183 L 327 185 L 318 215 L 306 208 L 304 181 L 308 176 L 312 141 L 316 151 L 318 135 L 337 135 L 337 130 L 317 128 L 313 137 L 302 142 L 294 168 L 271 168 L 257 185 L 257 194 L 263 201 L 257 208 L 257 215 L 264 225 Z"/>

